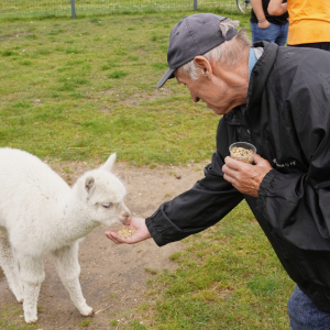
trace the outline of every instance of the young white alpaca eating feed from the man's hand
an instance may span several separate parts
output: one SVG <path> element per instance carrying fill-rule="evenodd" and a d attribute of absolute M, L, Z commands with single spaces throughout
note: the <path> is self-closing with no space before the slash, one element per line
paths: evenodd
<path fill-rule="evenodd" d="M 98 169 L 82 175 L 70 188 L 37 157 L 0 148 L 0 265 L 24 318 L 35 322 L 43 260 L 52 253 L 62 283 L 81 315 L 92 315 L 82 296 L 78 263 L 79 239 L 99 224 L 125 222 L 130 211 L 125 188 L 110 173 L 112 154 Z"/>

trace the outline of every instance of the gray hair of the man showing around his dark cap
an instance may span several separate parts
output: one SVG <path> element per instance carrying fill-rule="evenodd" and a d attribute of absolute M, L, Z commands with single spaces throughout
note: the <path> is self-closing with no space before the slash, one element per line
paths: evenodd
<path fill-rule="evenodd" d="M 230 29 L 235 29 L 240 25 L 239 21 L 232 21 L 226 19 L 220 22 L 219 28 L 223 35 Z M 251 46 L 251 41 L 244 29 L 241 29 L 239 33 L 233 36 L 230 41 L 227 41 L 213 50 L 207 52 L 202 56 L 207 59 L 222 62 L 224 65 L 231 66 L 237 64 L 242 57 L 243 50 Z M 191 80 L 197 80 L 199 78 L 199 67 L 195 64 L 194 59 L 184 64 L 178 68 L 178 72 L 184 73 Z"/>

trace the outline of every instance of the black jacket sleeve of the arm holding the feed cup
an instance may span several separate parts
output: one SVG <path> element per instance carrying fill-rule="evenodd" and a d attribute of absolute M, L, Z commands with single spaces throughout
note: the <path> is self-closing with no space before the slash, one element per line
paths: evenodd
<path fill-rule="evenodd" d="M 257 199 L 275 231 L 308 250 L 329 249 L 330 242 L 330 75 L 316 76 L 311 72 L 297 75 L 284 109 L 292 114 L 290 129 L 296 131 L 305 169 L 294 174 L 271 170 Z"/>

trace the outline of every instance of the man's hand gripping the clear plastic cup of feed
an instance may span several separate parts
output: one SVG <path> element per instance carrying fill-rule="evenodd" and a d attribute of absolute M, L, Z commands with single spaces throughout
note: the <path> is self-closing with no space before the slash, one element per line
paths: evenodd
<path fill-rule="evenodd" d="M 253 197 L 258 197 L 257 190 L 265 175 L 273 169 L 268 161 L 260 155 L 253 156 L 255 165 L 246 164 L 226 157 L 222 166 L 223 178 L 231 183 L 239 191 Z"/>

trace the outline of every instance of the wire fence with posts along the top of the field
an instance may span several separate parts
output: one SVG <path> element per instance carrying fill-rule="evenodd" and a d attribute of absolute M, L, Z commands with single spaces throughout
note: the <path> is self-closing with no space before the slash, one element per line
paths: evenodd
<path fill-rule="evenodd" d="M 116 13 L 193 11 L 194 0 L 1 0 L 0 19 L 72 16 L 72 2 L 78 16 Z M 196 3 L 195 3 L 196 4 Z M 198 0 L 198 11 L 238 12 L 235 0 Z"/>

